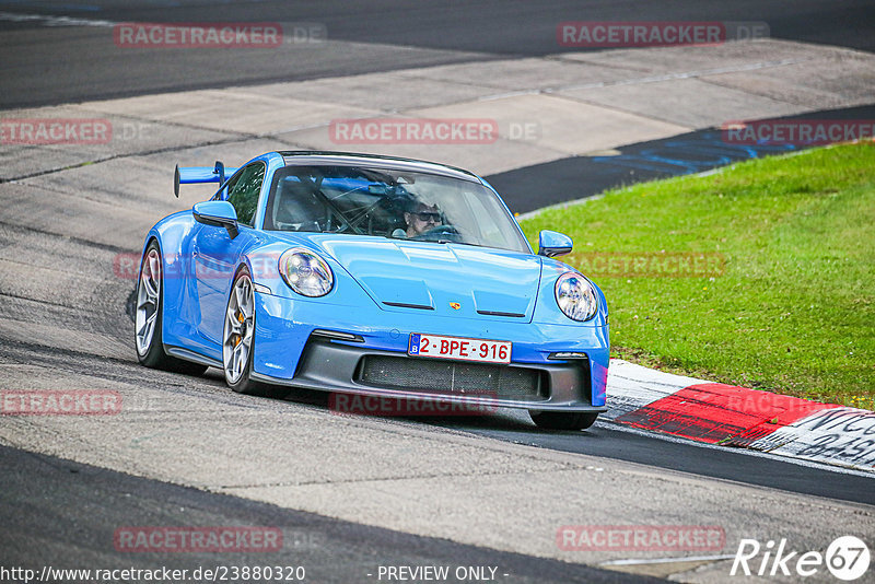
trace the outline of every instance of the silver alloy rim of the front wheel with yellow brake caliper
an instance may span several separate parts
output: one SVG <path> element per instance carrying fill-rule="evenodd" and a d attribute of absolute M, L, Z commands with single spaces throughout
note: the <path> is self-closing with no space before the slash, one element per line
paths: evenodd
<path fill-rule="evenodd" d="M 222 335 L 222 364 L 225 379 L 237 383 L 249 363 L 249 352 L 255 331 L 255 299 L 253 281 L 242 273 L 231 289 L 231 299 L 225 311 L 225 326 Z"/>

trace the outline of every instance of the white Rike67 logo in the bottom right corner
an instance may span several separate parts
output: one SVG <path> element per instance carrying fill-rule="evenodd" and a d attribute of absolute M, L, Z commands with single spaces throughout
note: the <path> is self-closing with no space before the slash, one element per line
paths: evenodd
<path fill-rule="evenodd" d="M 765 546 L 756 539 L 742 539 L 730 575 L 808 577 L 826 569 L 837 579 L 851 582 L 868 570 L 870 551 L 862 539 L 842 536 L 829 545 L 826 553 L 788 550 L 786 539 Z"/>

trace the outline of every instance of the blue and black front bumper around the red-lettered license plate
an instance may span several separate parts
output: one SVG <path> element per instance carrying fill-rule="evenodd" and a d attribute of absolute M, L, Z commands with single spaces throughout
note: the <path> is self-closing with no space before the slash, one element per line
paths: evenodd
<path fill-rule="evenodd" d="M 330 338 L 331 331 L 355 339 Z M 508 340 L 511 364 L 411 358 L 411 332 Z M 551 359 L 557 352 L 580 357 Z M 607 367 L 606 326 L 389 312 L 256 293 L 253 378 L 266 383 L 537 411 L 605 411 Z"/>

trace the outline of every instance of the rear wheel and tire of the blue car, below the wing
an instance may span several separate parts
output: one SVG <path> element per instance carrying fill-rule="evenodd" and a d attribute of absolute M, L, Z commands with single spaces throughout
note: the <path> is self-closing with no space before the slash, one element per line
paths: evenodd
<path fill-rule="evenodd" d="M 151 369 L 202 375 L 207 371 L 206 365 L 183 361 L 164 352 L 163 318 L 164 275 L 161 271 L 161 249 L 153 240 L 140 261 L 133 300 L 133 346 L 137 360 Z"/>

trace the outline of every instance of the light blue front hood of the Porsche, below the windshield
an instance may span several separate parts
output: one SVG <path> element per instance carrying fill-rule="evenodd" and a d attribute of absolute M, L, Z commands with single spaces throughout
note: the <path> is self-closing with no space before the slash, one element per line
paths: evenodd
<path fill-rule="evenodd" d="M 538 256 L 460 244 L 314 234 L 384 311 L 532 320 Z"/>

